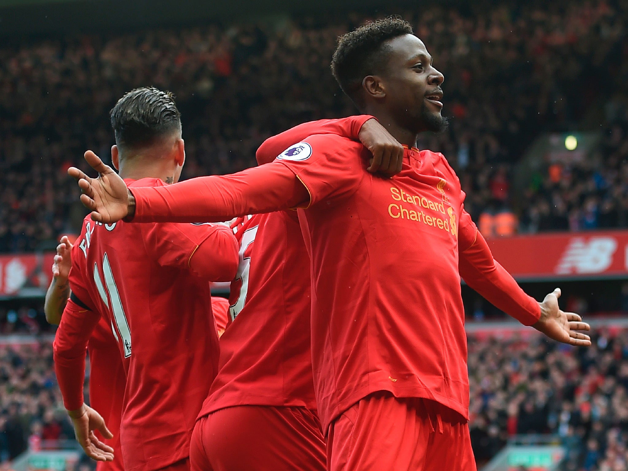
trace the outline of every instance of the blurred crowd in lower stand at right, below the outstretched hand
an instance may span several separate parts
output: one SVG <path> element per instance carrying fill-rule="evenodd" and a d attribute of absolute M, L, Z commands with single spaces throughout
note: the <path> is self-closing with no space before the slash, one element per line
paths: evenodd
<path fill-rule="evenodd" d="M 487 460 L 509 437 L 560 436 L 566 471 L 628 469 L 628 332 L 576 349 L 541 337 L 469 338 L 470 429 Z"/>

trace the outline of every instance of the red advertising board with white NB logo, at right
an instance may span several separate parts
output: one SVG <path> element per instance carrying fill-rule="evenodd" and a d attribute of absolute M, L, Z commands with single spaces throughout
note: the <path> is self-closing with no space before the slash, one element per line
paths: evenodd
<path fill-rule="evenodd" d="M 517 279 L 628 277 L 628 230 L 489 239 Z"/>

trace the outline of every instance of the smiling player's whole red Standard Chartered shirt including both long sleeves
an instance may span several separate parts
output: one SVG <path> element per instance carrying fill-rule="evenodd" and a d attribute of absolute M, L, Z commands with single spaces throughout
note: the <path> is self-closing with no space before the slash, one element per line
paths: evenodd
<path fill-rule="evenodd" d="M 441 154 L 407 149 L 403 170 L 389 180 L 369 174 L 367 158 L 347 139 L 310 136 L 273 163 L 236 175 L 135 188 L 135 220 L 306 208 L 300 219 L 313 273 L 312 359 L 323 430 L 382 389 L 433 399 L 467 417 L 458 254 L 468 251 L 463 258 L 475 261 L 477 271 L 462 266 L 480 280 L 469 283 L 522 322 L 538 320 L 538 304 L 502 280 Z M 492 294 L 501 289 L 512 292 Z"/>

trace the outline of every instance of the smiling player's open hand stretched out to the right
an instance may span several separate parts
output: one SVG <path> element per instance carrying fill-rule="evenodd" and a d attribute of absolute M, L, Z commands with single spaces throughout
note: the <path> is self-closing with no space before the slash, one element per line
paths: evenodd
<path fill-rule="evenodd" d="M 532 327 L 544 333 L 553 340 L 563 342 L 563 344 L 576 345 L 578 347 L 588 347 L 591 345 L 591 338 L 576 330 L 590 330 L 591 327 L 582 322 L 582 317 L 573 312 L 563 312 L 558 308 L 558 298 L 560 298 L 560 288 L 556 288 L 552 293 L 545 296 L 541 305 L 541 318 Z"/>

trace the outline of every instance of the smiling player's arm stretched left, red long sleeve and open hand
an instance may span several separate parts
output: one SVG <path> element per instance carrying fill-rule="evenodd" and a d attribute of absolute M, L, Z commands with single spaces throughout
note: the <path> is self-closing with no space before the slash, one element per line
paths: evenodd
<path fill-rule="evenodd" d="M 306 205 L 305 185 L 279 162 L 249 168 L 233 175 L 201 176 L 167 187 L 126 187 L 111 167 L 92 151 L 85 160 L 99 173 L 90 178 L 78 168 L 68 174 L 78 180 L 81 202 L 92 219 L 111 224 L 123 218 L 134 222 L 220 222 L 236 216 Z"/>

